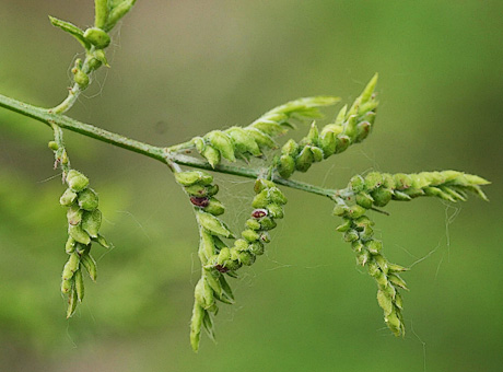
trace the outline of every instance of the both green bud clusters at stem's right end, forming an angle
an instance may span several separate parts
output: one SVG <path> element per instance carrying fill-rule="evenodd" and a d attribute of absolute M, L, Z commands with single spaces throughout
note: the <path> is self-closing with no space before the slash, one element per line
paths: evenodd
<path fill-rule="evenodd" d="M 335 197 L 334 214 L 342 217 L 337 228 L 351 243 L 356 263 L 367 268 L 377 283 L 377 303 L 383 309 L 387 326 L 396 336 L 405 335 L 401 311 L 403 301 L 399 289 L 408 290 L 399 272 L 406 268 L 389 263 L 382 254 L 383 243 L 374 239 L 374 223 L 365 216 L 375 207 L 385 207 L 390 200 L 407 201 L 420 196 L 434 196 L 448 201 L 464 201 L 467 193 L 484 200 L 480 186 L 489 182 L 457 171 L 421 172 L 418 174 L 388 174 L 372 172 L 352 177 L 346 189 Z"/>

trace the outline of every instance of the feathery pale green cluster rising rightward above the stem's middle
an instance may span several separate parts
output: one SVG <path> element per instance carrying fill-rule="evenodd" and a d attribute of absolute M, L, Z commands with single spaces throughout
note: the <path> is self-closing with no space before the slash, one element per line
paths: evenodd
<path fill-rule="evenodd" d="M 250 156 L 262 156 L 264 150 L 278 149 L 274 137 L 284 135 L 293 128 L 293 119 L 318 117 L 317 107 L 336 103 L 330 96 L 305 97 L 278 106 L 249 126 L 213 130 L 204 137 L 191 140 L 198 152 L 211 164 L 218 165 L 222 158 L 230 162 L 236 159 L 248 161 Z"/>

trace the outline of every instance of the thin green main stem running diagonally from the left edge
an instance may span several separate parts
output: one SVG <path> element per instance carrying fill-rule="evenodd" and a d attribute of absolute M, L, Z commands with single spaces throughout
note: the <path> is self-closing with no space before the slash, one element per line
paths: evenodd
<path fill-rule="evenodd" d="M 27 103 L 24 103 L 24 102 L 14 100 L 14 98 L 10 98 L 2 94 L 0 94 L 0 107 L 7 108 L 9 111 L 19 113 L 27 117 L 31 117 L 35 120 L 42 121 L 48 125 L 51 129 L 54 129 L 54 127 L 57 126 L 59 128 L 68 129 L 68 130 L 78 132 L 80 135 L 97 139 L 102 142 L 110 143 L 113 146 L 159 160 L 162 163 L 167 164 L 172 171 L 178 172 L 179 165 L 187 165 L 187 166 L 192 166 L 192 167 L 207 170 L 211 172 L 232 174 L 232 175 L 247 177 L 247 178 L 257 178 L 264 173 L 264 170 L 254 170 L 254 168 L 247 168 L 247 167 L 235 166 L 235 165 L 224 165 L 224 164 L 220 164 L 213 168 L 208 162 L 203 160 L 174 152 L 175 150 L 180 150 L 182 148 L 186 148 L 185 143 L 182 143 L 183 144 L 182 147 L 174 146 L 174 147 L 168 147 L 168 148 L 161 148 L 161 147 L 148 144 L 144 142 L 140 142 L 140 141 L 127 138 L 121 135 L 114 133 L 112 131 L 107 131 L 102 128 L 97 128 L 90 124 L 81 123 L 66 115 L 57 114 L 54 112 L 52 108 L 47 109 L 47 108 L 33 106 L 33 105 L 30 105 Z M 302 183 L 299 181 L 285 179 L 281 177 L 273 177 L 272 181 L 283 186 L 296 188 L 303 191 L 325 196 L 328 198 L 332 198 L 334 195 L 337 194 L 337 190 L 335 189 L 323 188 L 323 187 L 309 185 L 306 183 Z"/>

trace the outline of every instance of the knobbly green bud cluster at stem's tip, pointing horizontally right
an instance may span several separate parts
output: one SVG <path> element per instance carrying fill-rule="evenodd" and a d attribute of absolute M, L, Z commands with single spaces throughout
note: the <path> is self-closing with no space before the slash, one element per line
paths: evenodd
<path fill-rule="evenodd" d="M 465 201 L 467 193 L 487 200 L 480 186 L 489 182 L 457 171 L 388 174 L 372 172 L 356 175 L 349 182 L 346 194 L 352 195 L 358 206 L 370 209 L 385 207 L 390 200 L 408 201 L 420 196 L 434 196 L 447 201 Z M 344 194 L 344 190 L 342 190 Z"/>

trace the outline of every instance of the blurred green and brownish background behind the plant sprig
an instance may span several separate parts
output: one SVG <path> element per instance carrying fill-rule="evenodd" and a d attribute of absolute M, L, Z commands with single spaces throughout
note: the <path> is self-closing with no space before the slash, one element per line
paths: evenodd
<path fill-rule="evenodd" d="M 81 53 L 48 14 L 87 26 L 93 2 L 0 0 L 0 92 L 46 107 L 66 96 Z M 375 216 L 387 257 L 413 266 L 400 339 L 335 231 L 331 204 L 286 190 L 267 255 L 234 281 L 237 303 L 222 306 L 217 345 L 204 337 L 195 354 L 198 236 L 167 167 L 66 135 L 115 244 L 94 248 L 98 281 L 67 321 L 51 132 L 0 109 L 0 370 L 502 371 L 502 14 L 503 3 L 489 0 L 139 0 L 114 32 L 112 69 L 70 116 L 167 146 L 300 96 L 349 102 L 378 71 L 373 135 L 297 178 L 343 187 L 370 170 L 453 168 L 492 181 L 491 202 L 420 199 Z M 218 179 L 237 229 L 252 181 Z"/>

